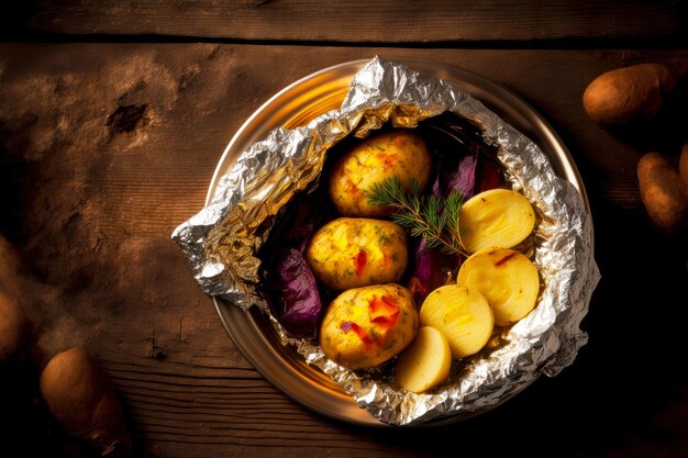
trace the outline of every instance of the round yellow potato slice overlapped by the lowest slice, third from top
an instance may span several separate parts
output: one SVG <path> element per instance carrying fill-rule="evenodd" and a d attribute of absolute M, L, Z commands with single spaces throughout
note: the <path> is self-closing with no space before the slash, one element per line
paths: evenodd
<path fill-rule="evenodd" d="M 487 299 L 458 284 L 431 292 L 420 314 L 421 326 L 433 326 L 446 337 L 454 359 L 478 353 L 492 334 L 495 316 Z"/>

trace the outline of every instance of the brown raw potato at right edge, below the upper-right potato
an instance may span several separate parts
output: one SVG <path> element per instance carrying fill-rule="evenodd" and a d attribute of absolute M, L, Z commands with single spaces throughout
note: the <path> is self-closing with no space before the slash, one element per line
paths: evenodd
<path fill-rule="evenodd" d="M 641 157 L 637 181 L 647 214 L 657 227 L 673 233 L 688 226 L 688 196 L 667 156 L 648 153 Z"/>

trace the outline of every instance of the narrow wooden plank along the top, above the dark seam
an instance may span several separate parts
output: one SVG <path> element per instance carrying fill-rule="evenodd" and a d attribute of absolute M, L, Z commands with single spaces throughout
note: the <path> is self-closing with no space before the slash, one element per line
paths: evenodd
<path fill-rule="evenodd" d="M 37 1 L 33 8 L 5 12 L 9 25 L 4 30 L 8 34 L 29 36 L 58 33 L 418 45 L 473 41 L 675 37 L 681 32 L 681 16 L 685 19 L 680 2 L 621 0 L 58 0 Z"/>

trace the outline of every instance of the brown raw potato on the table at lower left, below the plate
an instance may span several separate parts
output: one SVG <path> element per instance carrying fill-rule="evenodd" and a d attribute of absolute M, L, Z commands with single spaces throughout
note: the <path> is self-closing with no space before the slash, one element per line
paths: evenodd
<path fill-rule="evenodd" d="M 48 410 L 71 435 L 106 453 L 131 449 L 124 413 L 106 376 L 82 349 L 55 355 L 40 380 Z"/>

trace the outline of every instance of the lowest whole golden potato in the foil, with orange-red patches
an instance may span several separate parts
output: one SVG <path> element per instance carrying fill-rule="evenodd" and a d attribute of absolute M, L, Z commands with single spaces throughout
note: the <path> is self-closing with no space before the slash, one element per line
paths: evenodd
<path fill-rule="evenodd" d="M 320 327 L 320 346 L 349 369 L 379 366 L 403 350 L 418 332 L 418 310 L 411 292 L 395 283 L 355 288 L 328 308 Z"/>

